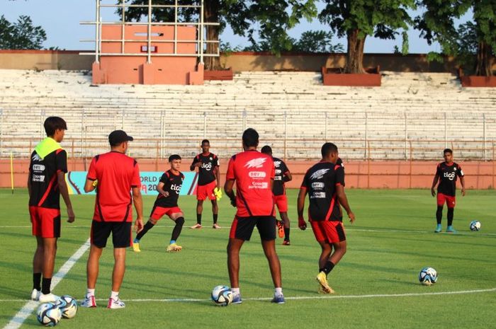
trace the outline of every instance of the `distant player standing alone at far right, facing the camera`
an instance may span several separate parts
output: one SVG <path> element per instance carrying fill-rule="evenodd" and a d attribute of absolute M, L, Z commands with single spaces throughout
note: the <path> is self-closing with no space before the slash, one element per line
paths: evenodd
<path fill-rule="evenodd" d="M 443 206 L 444 202 L 448 206 L 448 227 L 446 227 L 446 232 L 456 233 L 453 229 L 453 213 L 455 210 L 456 202 L 456 178 L 460 178 L 461 183 L 461 195 L 465 196 L 465 178 L 461 166 L 458 163 L 453 162 L 453 151 L 451 149 L 445 149 L 443 151 L 444 162 L 437 165 L 436 175 L 434 175 L 434 180 L 432 181 L 431 194 L 436 196 L 437 182 L 437 211 L 436 211 L 436 221 L 437 226 L 435 233 L 441 232 L 441 219 L 443 218 Z"/>

